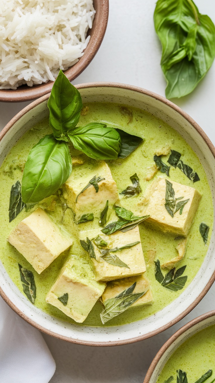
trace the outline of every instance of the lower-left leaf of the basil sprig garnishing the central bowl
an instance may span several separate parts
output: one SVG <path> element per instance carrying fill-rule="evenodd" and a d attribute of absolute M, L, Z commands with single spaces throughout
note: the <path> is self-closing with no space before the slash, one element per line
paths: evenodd
<path fill-rule="evenodd" d="M 22 178 L 22 199 L 36 203 L 54 194 L 69 178 L 72 160 L 66 142 L 52 134 L 41 138 L 28 154 Z"/>

